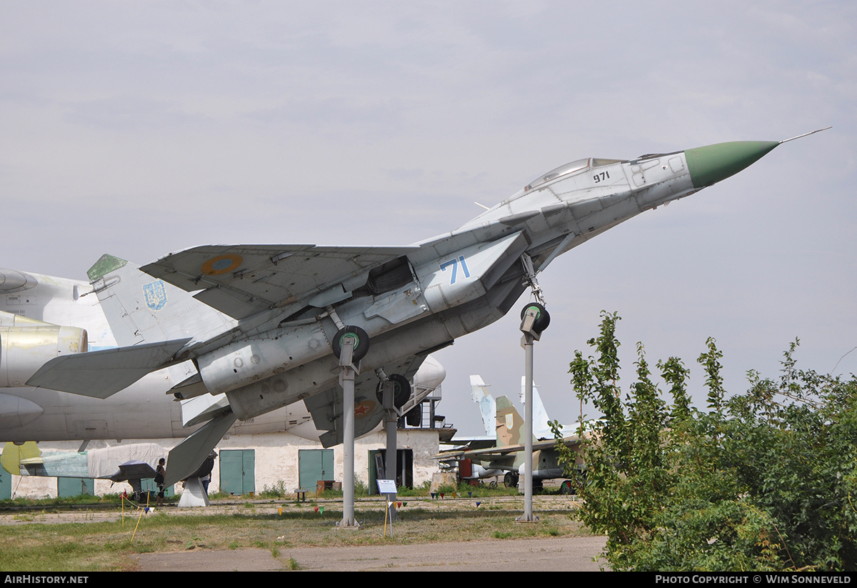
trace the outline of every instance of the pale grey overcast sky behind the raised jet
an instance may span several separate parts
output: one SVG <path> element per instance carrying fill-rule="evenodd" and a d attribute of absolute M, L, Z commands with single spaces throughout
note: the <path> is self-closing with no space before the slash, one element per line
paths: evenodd
<path fill-rule="evenodd" d="M 573 159 L 780 140 L 540 277 L 551 417 L 575 349 L 618 311 L 692 369 L 827 372 L 857 346 L 853 2 L 0 2 L 0 265 L 85 279 L 207 243 L 399 245 Z M 526 302 L 522 297 L 520 303 Z M 437 354 L 440 412 L 482 429 L 468 375 L 518 393 L 518 307 Z M 857 372 L 857 351 L 836 367 Z M 592 416 L 590 411 L 590 416 Z"/>

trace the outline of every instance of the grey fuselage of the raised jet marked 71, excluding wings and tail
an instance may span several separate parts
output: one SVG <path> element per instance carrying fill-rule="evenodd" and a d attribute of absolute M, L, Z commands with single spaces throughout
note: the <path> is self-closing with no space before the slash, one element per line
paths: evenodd
<path fill-rule="evenodd" d="M 703 188 L 702 174 L 707 174 L 704 181 L 716 181 L 716 169 L 722 165 L 734 167 L 734 159 L 754 161 L 776 144 L 722 144 L 725 155 L 699 153 L 717 147 L 710 146 L 632 160 L 580 159 L 564 165 L 457 230 L 415 243 L 412 251 L 399 258 L 398 266 L 393 264 L 376 276 L 387 277 L 394 287 L 375 293 L 365 286 L 363 291 L 334 286 L 334 292 L 351 289 L 351 297 L 337 303 L 335 312 L 343 323 L 369 333 L 371 345 L 363 370 L 450 345 L 497 321 L 518 300 L 528 287 L 522 255 L 529 256 L 539 272 L 556 255 L 591 237 Z M 302 322 L 313 315 L 323 313 L 307 309 L 287 319 L 294 321 L 294 327 L 286 322 L 200 357 L 197 362 L 209 391 L 225 392 L 237 417 L 249 418 L 335 386 L 338 360 L 325 344 L 333 340 L 338 326 L 327 316 L 311 324 Z M 256 350 L 273 351 L 275 341 L 290 335 L 297 345 L 273 353 L 270 362 L 262 352 L 255 369 L 245 368 L 246 358 Z M 243 366 L 236 368 L 239 359 Z"/>

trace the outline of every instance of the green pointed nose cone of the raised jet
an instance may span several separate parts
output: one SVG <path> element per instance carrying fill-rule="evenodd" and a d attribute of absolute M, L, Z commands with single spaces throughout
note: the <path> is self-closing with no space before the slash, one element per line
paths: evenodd
<path fill-rule="evenodd" d="M 732 141 L 695 147 L 685 152 L 694 188 L 704 188 L 762 159 L 780 141 Z"/>

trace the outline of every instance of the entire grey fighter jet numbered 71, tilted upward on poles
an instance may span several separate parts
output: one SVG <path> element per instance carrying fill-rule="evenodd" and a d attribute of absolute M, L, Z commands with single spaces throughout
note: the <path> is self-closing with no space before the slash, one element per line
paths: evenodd
<path fill-rule="evenodd" d="M 111 323 L 133 336 L 116 350 L 52 359 L 27 383 L 106 398 L 190 360 L 177 391 L 225 393 L 229 408 L 173 449 L 168 478 L 180 479 L 235 419 L 319 394 L 335 412 L 346 338 L 361 362 L 359 391 L 393 375 L 410 379 L 429 352 L 498 320 L 528 288 L 541 332 L 549 317 L 536 273 L 557 255 L 734 175 L 782 142 L 578 159 L 458 229 L 405 247 L 207 245 L 141 271 L 105 255 L 90 282 Z"/>

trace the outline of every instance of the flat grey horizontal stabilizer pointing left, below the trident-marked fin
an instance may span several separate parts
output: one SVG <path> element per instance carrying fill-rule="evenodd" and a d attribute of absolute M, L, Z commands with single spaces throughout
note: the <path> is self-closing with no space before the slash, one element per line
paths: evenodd
<path fill-rule="evenodd" d="M 27 380 L 27 386 L 107 398 L 160 369 L 190 339 L 88 351 L 55 357 Z"/>

